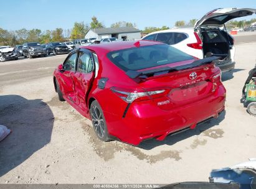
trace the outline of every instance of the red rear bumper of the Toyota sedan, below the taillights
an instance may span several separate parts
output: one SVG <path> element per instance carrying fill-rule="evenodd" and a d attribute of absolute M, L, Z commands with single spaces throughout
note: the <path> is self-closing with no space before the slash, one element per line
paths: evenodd
<path fill-rule="evenodd" d="M 168 111 L 153 103 L 131 104 L 124 118 L 104 112 L 111 136 L 138 145 L 146 139 L 165 139 L 168 134 L 187 127 L 194 129 L 199 122 L 217 118 L 225 108 L 225 88 L 220 85 L 211 96 Z"/>

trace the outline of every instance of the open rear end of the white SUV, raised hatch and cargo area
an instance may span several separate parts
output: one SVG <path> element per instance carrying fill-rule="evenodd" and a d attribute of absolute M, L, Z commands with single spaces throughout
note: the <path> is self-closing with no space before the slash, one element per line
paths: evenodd
<path fill-rule="evenodd" d="M 214 61 L 222 71 L 235 68 L 234 38 L 225 30 L 231 19 L 255 14 L 256 9 L 214 9 L 196 22 L 194 30 L 202 40 L 203 57 L 221 57 Z"/>

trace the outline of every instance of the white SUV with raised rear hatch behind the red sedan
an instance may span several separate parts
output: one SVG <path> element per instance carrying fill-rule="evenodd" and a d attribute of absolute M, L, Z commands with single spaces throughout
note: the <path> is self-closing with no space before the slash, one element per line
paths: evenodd
<path fill-rule="evenodd" d="M 192 29 L 162 30 L 148 34 L 142 40 L 164 42 L 197 58 L 219 56 L 220 60 L 214 62 L 222 71 L 229 71 L 235 67 L 235 47 L 234 38 L 225 30 L 224 24 L 255 12 L 256 9 L 214 9 Z"/>

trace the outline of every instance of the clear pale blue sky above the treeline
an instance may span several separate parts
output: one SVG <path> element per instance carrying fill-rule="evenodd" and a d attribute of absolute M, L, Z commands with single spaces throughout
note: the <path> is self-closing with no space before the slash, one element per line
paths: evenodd
<path fill-rule="evenodd" d="M 178 20 L 200 19 L 219 7 L 256 8 L 255 0 L 6 0 L 1 1 L 0 27 L 7 30 L 70 29 L 74 22 L 90 24 L 96 16 L 106 27 L 117 21 L 146 26 L 172 27 Z M 254 16 L 243 19 L 256 18 Z"/>

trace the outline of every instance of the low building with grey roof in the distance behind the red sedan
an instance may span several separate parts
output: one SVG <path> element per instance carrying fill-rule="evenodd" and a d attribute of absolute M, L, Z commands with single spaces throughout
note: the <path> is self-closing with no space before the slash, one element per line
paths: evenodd
<path fill-rule="evenodd" d="M 116 37 L 123 40 L 141 39 L 140 30 L 135 27 L 109 27 L 90 29 L 85 35 L 85 39 L 96 37 L 97 39 L 105 39 L 109 37 Z"/>

